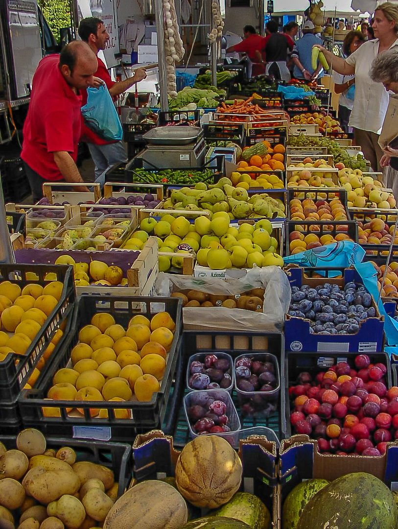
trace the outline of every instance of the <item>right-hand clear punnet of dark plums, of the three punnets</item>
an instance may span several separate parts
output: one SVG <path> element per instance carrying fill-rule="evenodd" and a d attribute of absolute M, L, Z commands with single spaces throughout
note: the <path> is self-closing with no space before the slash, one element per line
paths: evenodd
<path fill-rule="evenodd" d="M 238 357 L 235 384 L 242 415 L 269 417 L 275 412 L 276 401 L 270 393 L 279 387 L 279 379 L 272 361 Z"/>

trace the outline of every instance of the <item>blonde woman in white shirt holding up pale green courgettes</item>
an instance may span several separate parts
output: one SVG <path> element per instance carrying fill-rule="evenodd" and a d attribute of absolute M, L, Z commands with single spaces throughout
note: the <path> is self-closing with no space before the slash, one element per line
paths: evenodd
<path fill-rule="evenodd" d="M 360 145 L 364 156 L 374 171 L 382 171 L 383 151 L 377 140 L 382 130 L 388 106 L 388 94 L 381 83 L 369 76 L 372 61 L 385 50 L 398 50 L 398 5 L 385 2 L 377 7 L 372 28 L 375 40 L 367 41 L 347 59 L 317 45 L 339 74 L 355 75 L 355 98 L 349 126 L 354 127 L 355 143 Z"/>

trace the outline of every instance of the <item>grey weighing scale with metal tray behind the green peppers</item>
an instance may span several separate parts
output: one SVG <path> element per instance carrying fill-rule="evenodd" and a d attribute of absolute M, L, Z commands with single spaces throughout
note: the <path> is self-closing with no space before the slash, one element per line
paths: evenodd
<path fill-rule="evenodd" d="M 144 134 L 148 142 L 142 158 L 144 169 L 178 169 L 179 167 L 203 167 L 206 142 L 200 127 L 173 125 L 155 127 Z"/>

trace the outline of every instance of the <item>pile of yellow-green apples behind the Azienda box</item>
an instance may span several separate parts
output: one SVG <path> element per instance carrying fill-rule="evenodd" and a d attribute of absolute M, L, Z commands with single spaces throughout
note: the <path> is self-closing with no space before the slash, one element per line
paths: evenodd
<path fill-rule="evenodd" d="M 180 249 L 188 244 L 196 252 L 198 265 L 212 270 L 226 268 L 253 268 L 253 266 L 280 266 L 283 259 L 278 253 L 278 242 L 273 236 L 273 226 L 268 219 L 240 226 L 230 226 L 226 212 L 214 213 L 211 220 L 200 215 L 190 223 L 186 217 L 174 218 L 166 214 L 161 221 L 153 217 L 141 221 L 140 231 L 156 235 L 159 252 L 177 252 L 181 257 L 159 256 L 160 271 L 169 271 L 171 266 L 182 268 L 183 255 L 189 249 Z M 133 234 L 134 235 L 134 234 Z"/>

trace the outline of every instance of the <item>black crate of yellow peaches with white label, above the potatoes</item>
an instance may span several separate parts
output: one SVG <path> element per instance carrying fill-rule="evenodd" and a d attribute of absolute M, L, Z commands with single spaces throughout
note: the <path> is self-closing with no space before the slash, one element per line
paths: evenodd
<path fill-rule="evenodd" d="M 62 350 L 53 359 L 46 376 L 40 383 L 34 389 L 23 390 L 20 395 L 18 403 L 24 426 L 35 426 L 47 435 L 62 432 L 62 435 L 67 438 L 86 437 L 92 428 L 95 428 L 97 434 L 99 432 L 100 435 L 106 436 L 107 440 L 112 441 L 131 440 L 137 433 L 159 428 L 166 411 L 170 387 L 180 354 L 181 310 L 182 302 L 177 298 L 109 296 L 104 299 L 101 296 L 82 295 L 73 316 L 69 342 L 64 343 Z M 152 395 L 150 402 L 136 400 L 112 403 L 107 401 L 79 402 L 79 408 L 83 409 L 84 417 L 72 417 L 67 414 L 70 401 L 44 400 L 52 386 L 55 372 L 68 365 L 71 350 L 78 342 L 79 330 L 90 323 L 92 315 L 97 312 L 111 313 L 116 323 L 126 328 L 133 315 L 143 314 L 151 318 L 161 311 L 168 312 L 175 322 L 174 340 L 168 353 L 166 370 L 160 382 L 160 391 Z M 44 417 L 42 406 L 59 408 L 61 417 Z M 91 417 L 89 408 L 106 408 L 108 417 Z M 126 408 L 132 412 L 131 419 L 120 419 L 114 416 L 116 409 Z"/>

